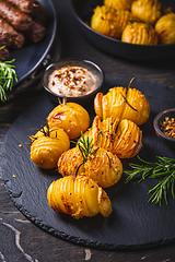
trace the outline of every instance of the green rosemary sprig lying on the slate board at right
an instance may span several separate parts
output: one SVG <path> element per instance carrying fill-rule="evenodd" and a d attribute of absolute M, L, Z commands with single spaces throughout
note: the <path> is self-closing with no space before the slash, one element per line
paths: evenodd
<path fill-rule="evenodd" d="M 162 198 L 164 198 L 165 203 L 168 205 L 167 201 L 167 190 L 171 191 L 173 199 L 175 199 L 175 159 L 168 157 L 156 156 L 158 162 L 151 163 L 138 158 L 142 164 L 130 164 L 129 166 L 132 170 L 125 171 L 129 175 L 126 179 L 128 183 L 132 178 L 141 175 L 141 178 L 138 182 L 143 181 L 145 178 L 150 179 L 160 179 L 159 183 L 155 187 L 149 190 L 151 198 L 149 202 L 159 203 L 162 205 Z"/>

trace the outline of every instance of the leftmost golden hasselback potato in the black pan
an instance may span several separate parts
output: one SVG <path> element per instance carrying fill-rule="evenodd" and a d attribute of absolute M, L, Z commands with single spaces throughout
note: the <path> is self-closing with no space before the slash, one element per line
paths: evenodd
<path fill-rule="evenodd" d="M 120 38 L 130 20 L 133 20 L 133 15 L 128 10 L 115 10 L 105 5 L 97 5 L 91 19 L 91 27 L 103 35 Z"/>

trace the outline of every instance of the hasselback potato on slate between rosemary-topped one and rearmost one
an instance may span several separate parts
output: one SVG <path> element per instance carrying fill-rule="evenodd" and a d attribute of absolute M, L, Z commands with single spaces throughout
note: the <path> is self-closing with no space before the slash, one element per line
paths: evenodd
<path fill-rule="evenodd" d="M 92 139 L 95 145 L 112 152 L 119 158 L 133 157 L 142 147 L 142 131 L 128 119 L 122 119 L 117 126 L 114 117 L 101 121 L 96 116 L 92 128 L 84 133 L 84 138 L 86 136 Z"/>

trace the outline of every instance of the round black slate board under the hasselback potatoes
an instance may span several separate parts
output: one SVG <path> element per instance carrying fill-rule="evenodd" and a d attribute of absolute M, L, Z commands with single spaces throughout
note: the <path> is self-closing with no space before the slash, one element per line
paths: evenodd
<path fill-rule="evenodd" d="M 103 93 L 113 86 L 127 86 L 130 79 L 106 78 Z M 156 155 L 175 157 L 175 151 L 156 136 L 152 126 L 158 112 L 174 107 L 175 91 L 156 82 L 144 82 L 139 79 L 133 81 L 131 87 L 144 93 L 151 107 L 150 119 L 141 127 L 143 148 L 139 155 L 147 160 L 155 160 Z M 4 138 L 0 162 L 2 178 L 15 206 L 44 230 L 86 247 L 129 250 L 174 241 L 175 200 L 170 195 L 170 205 L 166 206 L 163 202 L 162 207 L 155 203 L 148 203 L 148 190 L 156 182 L 153 180 L 145 180 L 140 184 L 138 180 L 133 180 L 126 186 L 124 175 L 117 184 L 106 189 L 114 210 L 108 218 L 98 214 L 92 218 L 75 221 L 49 207 L 46 199 L 47 189 L 59 175 L 55 170 L 36 167 L 30 158 L 30 146 L 25 143 L 30 142 L 27 135 L 35 132 L 31 128 L 44 124 L 55 106 L 44 95 L 14 121 Z M 86 108 L 92 120 L 93 103 Z M 22 144 L 22 147 L 19 147 L 19 144 Z M 137 162 L 137 157 L 122 160 L 125 170 L 130 162 Z"/>

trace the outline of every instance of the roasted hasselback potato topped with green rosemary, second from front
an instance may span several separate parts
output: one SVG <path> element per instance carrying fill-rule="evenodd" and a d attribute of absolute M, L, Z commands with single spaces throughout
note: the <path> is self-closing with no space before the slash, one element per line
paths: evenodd
<path fill-rule="evenodd" d="M 83 146 L 83 145 L 80 145 Z M 88 152 L 88 151 L 86 151 Z M 81 165 L 82 164 L 82 165 Z M 80 168 L 78 169 L 78 167 Z M 79 146 L 69 150 L 58 160 L 58 171 L 65 176 L 84 172 L 100 187 L 108 188 L 120 179 L 122 164 L 119 158 L 105 148 L 93 146 L 86 159 L 83 159 Z"/>

